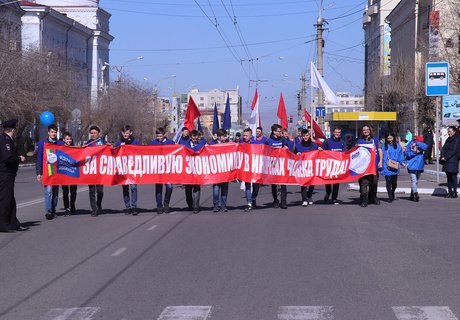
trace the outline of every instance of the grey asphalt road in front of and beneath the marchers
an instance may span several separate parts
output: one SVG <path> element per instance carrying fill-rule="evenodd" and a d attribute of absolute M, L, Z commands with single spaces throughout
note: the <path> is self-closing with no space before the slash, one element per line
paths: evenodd
<path fill-rule="evenodd" d="M 20 220 L 30 230 L 0 234 L 0 319 L 329 320 L 460 319 L 458 199 L 403 196 L 361 208 L 341 186 L 342 205 L 271 208 L 270 188 L 244 213 L 230 184 L 228 213 L 185 207 L 157 215 L 154 187 L 139 186 L 139 216 L 123 214 L 121 187 L 106 187 L 104 214 L 46 221 L 34 170 L 17 178 Z M 62 206 L 60 201 L 59 207 Z"/>

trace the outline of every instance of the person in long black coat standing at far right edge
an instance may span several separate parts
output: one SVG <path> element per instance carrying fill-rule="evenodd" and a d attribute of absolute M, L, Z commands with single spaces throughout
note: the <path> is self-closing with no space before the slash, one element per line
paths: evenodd
<path fill-rule="evenodd" d="M 447 135 L 449 136 L 444 142 L 444 145 L 441 149 L 441 161 L 443 162 L 442 171 L 446 173 L 447 176 L 447 188 L 449 193 L 446 198 L 457 198 L 457 174 L 458 174 L 458 156 L 457 150 L 458 137 L 457 137 L 457 128 L 450 126 L 447 129 Z"/>

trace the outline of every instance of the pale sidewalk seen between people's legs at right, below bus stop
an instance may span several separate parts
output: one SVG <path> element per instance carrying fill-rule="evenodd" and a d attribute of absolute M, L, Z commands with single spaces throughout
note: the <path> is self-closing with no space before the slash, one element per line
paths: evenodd
<path fill-rule="evenodd" d="M 441 166 L 439 166 L 439 170 L 441 170 Z M 436 164 L 425 165 L 425 170 L 420 176 L 420 180 L 418 182 L 418 193 L 430 194 L 433 196 L 445 196 L 447 195 L 446 183 L 446 174 L 442 171 L 439 172 L 439 185 L 436 182 Z M 407 169 L 403 168 L 401 169 L 401 173 L 398 176 L 398 188 L 396 189 L 396 193 L 410 195 L 410 186 L 410 176 L 407 173 Z M 349 183 L 348 190 L 359 191 L 358 182 Z M 380 176 L 379 178 L 379 187 L 377 189 L 377 192 L 387 192 L 387 189 L 385 187 L 385 178 L 383 176 Z"/>

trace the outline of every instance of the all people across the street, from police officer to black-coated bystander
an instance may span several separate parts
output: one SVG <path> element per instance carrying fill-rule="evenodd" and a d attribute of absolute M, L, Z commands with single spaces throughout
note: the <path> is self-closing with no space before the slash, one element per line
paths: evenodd
<path fill-rule="evenodd" d="M 443 171 L 446 172 L 448 182 L 448 198 L 457 197 L 457 173 L 460 155 L 460 141 L 457 137 L 457 128 L 449 127 L 448 139 L 441 150 L 440 162 L 443 165 Z M 18 164 L 24 161 L 24 157 L 17 154 L 14 138 L 16 135 L 16 121 L 6 121 L 3 123 L 3 134 L 0 138 L 0 231 L 22 230 L 19 221 L 16 218 L 16 203 L 14 200 L 14 177 L 16 176 Z M 106 142 L 101 136 L 101 129 L 98 126 L 89 128 L 89 140 L 83 146 L 93 147 L 101 145 L 112 145 L 119 147 L 121 145 L 140 145 L 140 142 L 134 138 L 133 129 L 126 125 L 120 130 L 120 139 L 115 143 Z M 194 151 L 200 151 L 205 145 L 221 144 L 229 142 L 228 133 L 224 129 L 214 132 L 211 141 L 206 141 L 202 133 L 197 130 L 189 131 L 183 128 L 177 141 L 170 140 L 165 135 L 163 128 L 156 129 L 156 138 L 150 142 L 151 145 L 168 145 L 181 144 Z M 265 144 L 272 148 L 286 148 L 290 151 L 301 154 L 313 150 L 329 150 L 333 152 L 344 152 L 354 146 L 361 146 L 376 150 L 375 165 L 377 170 L 373 174 L 368 174 L 359 179 L 360 187 L 360 206 L 367 207 L 369 204 L 379 205 L 380 200 L 377 197 L 377 185 L 380 176 L 385 178 L 388 202 L 395 200 L 395 190 L 397 188 L 398 175 L 402 168 L 407 169 L 411 178 L 411 195 L 410 200 L 418 202 L 420 200 L 417 185 L 420 175 L 424 170 L 425 163 L 431 163 L 431 152 L 433 148 L 433 134 L 428 128 L 424 136 L 416 136 L 407 140 L 406 144 L 401 145 L 397 141 L 395 134 L 388 133 L 385 139 L 379 141 L 373 134 L 373 128 L 364 125 L 361 128 L 361 134 L 355 143 L 347 145 L 342 137 L 342 130 L 336 127 L 332 131 L 332 136 L 324 141 L 314 139 L 310 130 L 300 129 L 295 139 L 290 139 L 286 129 L 278 124 L 271 126 L 271 132 L 268 137 L 263 134 L 263 129 L 258 127 L 255 135 L 250 128 L 243 130 L 242 134 L 237 133 L 232 142 Z M 62 133 L 58 139 L 58 128 L 56 125 L 48 127 L 48 136 L 38 143 L 36 174 L 37 180 L 42 181 L 43 172 L 43 153 L 45 152 L 45 143 L 73 146 L 72 135 L 69 132 Z M 213 212 L 227 212 L 228 182 L 213 184 Z M 257 196 L 260 184 L 244 183 L 244 194 L 246 198 L 245 212 L 252 212 L 257 209 Z M 57 217 L 57 205 L 59 190 L 62 188 L 64 202 L 64 216 L 72 215 L 76 212 L 77 186 L 50 186 L 43 185 L 44 189 L 44 211 L 45 217 L 52 220 Z M 313 205 L 313 192 L 315 186 L 300 186 L 302 206 Z M 164 195 L 163 195 L 164 189 Z M 185 185 L 185 198 L 188 209 L 193 213 L 200 212 L 200 194 L 201 185 Z M 173 193 L 171 184 L 156 184 L 155 198 L 156 210 L 158 214 L 171 212 L 170 200 Z M 280 209 L 288 208 L 287 188 L 286 185 L 271 185 L 273 196 L 273 207 Z M 278 198 L 278 195 L 280 197 Z M 339 184 L 326 185 L 324 201 L 334 205 L 342 203 L 338 198 Z M 103 185 L 89 186 L 89 202 L 91 206 L 91 216 L 97 217 L 102 212 L 102 200 L 104 196 Z M 125 205 L 125 214 L 138 215 L 137 207 L 137 185 L 123 185 L 122 196 Z"/>

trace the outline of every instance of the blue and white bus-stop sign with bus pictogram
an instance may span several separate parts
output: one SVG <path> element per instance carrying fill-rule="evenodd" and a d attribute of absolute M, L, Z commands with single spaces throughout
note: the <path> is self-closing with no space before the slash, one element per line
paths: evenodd
<path fill-rule="evenodd" d="M 427 96 L 445 96 L 449 94 L 448 62 L 426 63 L 425 93 Z"/>

